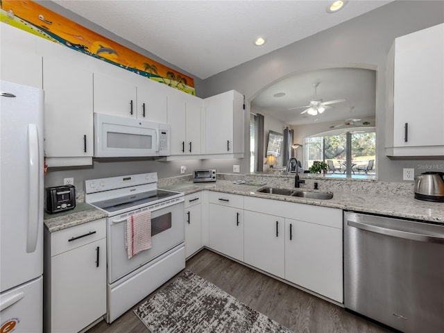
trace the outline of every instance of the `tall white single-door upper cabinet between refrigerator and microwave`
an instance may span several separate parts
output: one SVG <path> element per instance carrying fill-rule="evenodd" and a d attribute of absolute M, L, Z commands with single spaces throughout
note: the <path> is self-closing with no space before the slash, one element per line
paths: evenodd
<path fill-rule="evenodd" d="M 92 72 L 44 58 L 44 151 L 49 167 L 92 164 Z"/>

